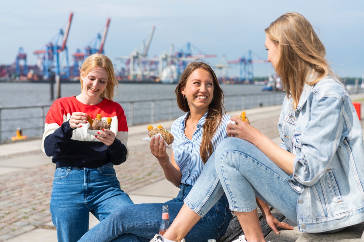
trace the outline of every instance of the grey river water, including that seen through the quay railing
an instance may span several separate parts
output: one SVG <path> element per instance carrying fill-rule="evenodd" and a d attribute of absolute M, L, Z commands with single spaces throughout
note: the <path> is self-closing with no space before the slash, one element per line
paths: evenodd
<path fill-rule="evenodd" d="M 183 114 L 177 107 L 172 84 L 132 84 L 119 86 L 119 92 L 114 101 L 121 104 L 129 126 L 133 124 L 154 124 L 158 120 L 175 119 Z M 225 96 L 226 111 L 279 104 L 283 93 L 274 100 L 261 91 L 261 86 L 255 85 L 222 85 Z M 80 93 L 80 83 L 62 83 L 61 97 L 69 97 Z M 259 93 L 259 94 L 258 94 Z M 242 94 L 254 94 L 242 97 Z M 24 135 L 30 137 L 43 134 L 44 116 L 53 101 L 50 99 L 49 83 L 0 83 L 0 143 L 11 139 L 19 127 Z M 160 99 L 170 99 L 162 101 Z M 147 102 L 141 102 L 149 100 Z M 150 101 L 153 100 L 153 101 Z M 134 103 L 130 103 L 135 101 Z M 273 103 L 278 102 L 278 103 Z M 30 106 L 45 106 L 29 108 Z M 27 107 L 27 108 L 19 108 Z M 155 107 L 155 109 L 153 109 Z"/>

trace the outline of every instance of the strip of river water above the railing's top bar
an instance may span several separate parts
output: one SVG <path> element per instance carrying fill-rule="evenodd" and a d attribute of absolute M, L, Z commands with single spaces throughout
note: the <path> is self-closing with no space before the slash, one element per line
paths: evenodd
<path fill-rule="evenodd" d="M 262 86 L 257 85 L 221 85 L 225 95 L 261 93 Z M 140 101 L 149 99 L 175 98 L 175 84 L 155 83 L 123 83 L 119 85 L 119 93 L 114 101 Z M 78 95 L 81 92 L 80 83 L 62 83 L 61 97 Z M 54 87 L 56 92 L 56 87 Z M 54 97 L 56 94 L 54 94 Z M 0 108 L 35 105 L 50 105 L 53 103 L 49 83 L 16 83 L 0 82 Z"/>

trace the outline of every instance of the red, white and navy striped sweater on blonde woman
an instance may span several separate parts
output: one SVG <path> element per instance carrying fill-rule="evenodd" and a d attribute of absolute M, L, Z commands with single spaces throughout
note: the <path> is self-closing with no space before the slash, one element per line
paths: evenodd
<path fill-rule="evenodd" d="M 72 112 L 84 112 L 96 118 L 112 118 L 110 130 L 115 133 L 115 141 L 110 146 L 102 143 L 94 135 L 88 134 L 89 123 L 81 128 L 72 129 L 69 120 Z M 95 168 L 111 162 L 123 163 L 128 157 L 128 126 L 126 116 L 120 104 L 106 98 L 96 105 L 79 102 L 75 96 L 57 99 L 46 117 L 42 150 L 47 156 L 53 156 L 56 167 Z"/>

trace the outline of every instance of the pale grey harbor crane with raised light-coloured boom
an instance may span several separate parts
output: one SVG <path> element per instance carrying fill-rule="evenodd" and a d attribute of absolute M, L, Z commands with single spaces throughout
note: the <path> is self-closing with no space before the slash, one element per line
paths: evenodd
<path fill-rule="evenodd" d="M 153 25 L 147 42 L 142 41 L 142 45 L 139 49 L 134 49 L 129 56 L 121 56 L 118 57 L 119 60 L 126 60 L 126 71 L 129 73 L 129 80 L 139 80 L 142 81 L 143 78 L 150 78 L 150 61 L 155 64 L 155 61 L 158 61 L 158 58 L 154 58 L 153 60 L 148 58 L 148 51 L 150 47 L 150 43 L 153 39 L 155 31 L 155 25 Z"/>

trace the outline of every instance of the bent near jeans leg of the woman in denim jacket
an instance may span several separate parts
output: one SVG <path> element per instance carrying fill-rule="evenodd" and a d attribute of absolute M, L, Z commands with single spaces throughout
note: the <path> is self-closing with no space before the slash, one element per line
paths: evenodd
<path fill-rule="evenodd" d="M 215 168 L 231 210 L 256 209 L 257 196 L 298 222 L 299 193 L 291 188 L 289 175 L 255 145 L 234 137 L 224 139 L 215 150 Z"/>

